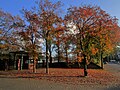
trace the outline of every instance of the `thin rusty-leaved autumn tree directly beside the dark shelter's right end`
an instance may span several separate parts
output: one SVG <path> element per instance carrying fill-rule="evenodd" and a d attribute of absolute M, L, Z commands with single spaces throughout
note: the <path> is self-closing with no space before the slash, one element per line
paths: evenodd
<path fill-rule="evenodd" d="M 23 50 L 29 53 L 31 59 L 33 59 L 33 72 L 36 73 L 36 63 L 39 53 L 41 53 L 41 37 L 38 34 L 38 16 L 31 10 L 23 9 L 24 22 L 16 24 L 18 30 L 18 36 L 21 38 L 24 45 Z"/>

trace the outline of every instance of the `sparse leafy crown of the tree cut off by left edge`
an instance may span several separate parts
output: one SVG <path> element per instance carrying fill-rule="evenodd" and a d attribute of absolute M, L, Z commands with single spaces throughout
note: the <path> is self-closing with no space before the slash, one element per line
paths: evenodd
<path fill-rule="evenodd" d="M 16 29 L 13 27 L 15 23 L 22 22 L 19 16 L 12 16 L 10 13 L 0 10 L 0 42 L 1 49 L 12 51 L 19 49 L 17 44 L 18 37 Z"/>

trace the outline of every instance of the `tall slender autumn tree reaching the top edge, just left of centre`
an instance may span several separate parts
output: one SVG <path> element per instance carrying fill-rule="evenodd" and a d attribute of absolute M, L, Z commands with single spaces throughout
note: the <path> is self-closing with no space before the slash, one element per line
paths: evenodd
<path fill-rule="evenodd" d="M 52 36 L 56 30 L 55 27 L 57 23 L 61 22 L 61 18 L 58 16 L 61 2 L 52 3 L 49 0 L 40 0 L 36 3 L 37 6 L 30 12 L 33 12 L 33 14 L 31 14 L 34 15 L 33 23 L 38 28 L 36 32 L 39 34 L 39 37 L 45 41 L 46 73 L 49 73 L 49 52 L 51 55 L 50 49 L 52 45 Z"/>

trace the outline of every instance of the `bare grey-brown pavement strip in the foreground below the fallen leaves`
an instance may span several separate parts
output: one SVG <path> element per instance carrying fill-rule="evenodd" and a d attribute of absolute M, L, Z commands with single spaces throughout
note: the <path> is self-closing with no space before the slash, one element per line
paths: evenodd
<path fill-rule="evenodd" d="M 0 78 L 0 90 L 120 90 L 120 87 L 70 85 L 24 78 Z"/>

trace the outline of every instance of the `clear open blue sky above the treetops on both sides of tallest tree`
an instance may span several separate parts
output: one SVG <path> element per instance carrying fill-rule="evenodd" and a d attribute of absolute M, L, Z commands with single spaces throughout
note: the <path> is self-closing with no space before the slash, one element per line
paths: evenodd
<path fill-rule="evenodd" d="M 13 15 L 21 14 L 20 10 L 24 7 L 30 9 L 35 5 L 36 0 L 0 0 L 0 8 Z M 111 16 L 116 16 L 120 20 L 120 0 L 50 0 L 52 2 L 61 1 L 64 11 L 71 5 L 80 6 L 81 4 L 92 4 L 100 6 Z M 119 21 L 120 25 L 120 21 Z"/>

